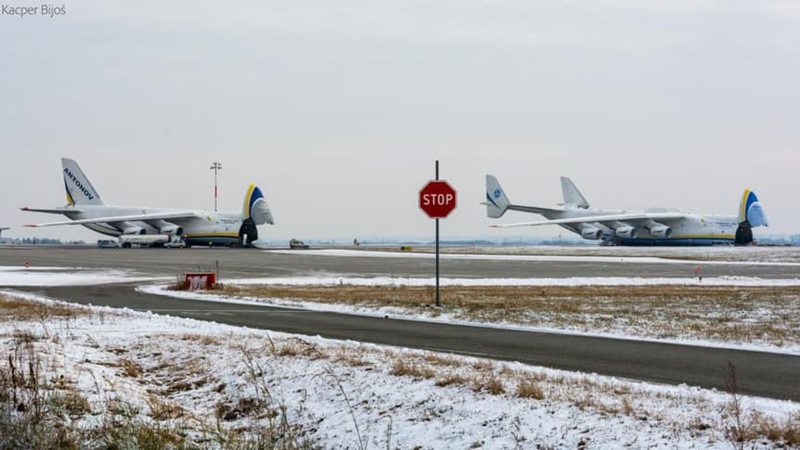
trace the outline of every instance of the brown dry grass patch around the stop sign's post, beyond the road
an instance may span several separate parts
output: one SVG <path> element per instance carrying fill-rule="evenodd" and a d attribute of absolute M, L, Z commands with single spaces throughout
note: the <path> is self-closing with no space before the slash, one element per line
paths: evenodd
<path fill-rule="evenodd" d="M 225 295 L 398 307 L 439 315 L 430 287 L 231 286 Z M 800 344 L 800 287 L 447 287 L 455 319 L 658 338 Z"/>

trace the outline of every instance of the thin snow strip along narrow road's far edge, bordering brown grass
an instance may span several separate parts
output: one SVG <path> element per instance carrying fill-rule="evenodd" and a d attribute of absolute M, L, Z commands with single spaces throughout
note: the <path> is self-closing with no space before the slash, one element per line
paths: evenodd
<path fill-rule="evenodd" d="M 226 281 L 226 283 L 229 283 Z M 230 281 L 230 283 L 236 283 Z M 308 286 L 308 285 L 306 285 Z M 474 327 L 494 327 L 519 331 L 544 331 L 551 333 L 563 333 L 569 335 L 587 335 L 597 337 L 607 337 L 624 340 L 641 340 L 647 342 L 662 342 L 667 344 L 698 345 L 711 348 L 734 348 L 739 350 L 750 350 L 754 352 L 782 353 L 789 355 L 800 355 L 800 344 L 784 342 L 782 345 L 775 345 L 771 342 L 730 342 L 722 340 L 709 340 L 698 338 L 693 335 L 681 335 L 678 337 L 663 337 L 660 335 L 660 328 L 657 324 L 650 324 L 640 319 L 642 326 L 636 332 L 630 327 L 612 327 L 608 330 L 589 331 L 576 327 L 558 327 L 530 325 L 524 323 L 510 322 L 480 322 L 477 320 L 462 319 L 458 316 L 458 311 L 432 310 L 426 308 L 413 309 L 410 307 L 394 306 L 371 306 L 347 303 L 322 303 L 302 299 L 286 298 L 267 298 L 256 296 L 230 296 L 214 293 L 214 291 L 174 291 L 168 284 L 146 284 L 136 288 L 137 291 L 146 292 L 152 295 L 166 295 L 178 299 L 192 299 L 208 302 L 238 303 L 248 305 L 267 305 L 270 307 L 302 308 L 310 311 L 328 311 L 342 314 L 367 315 L 370 317 L 390 317 L 393 319 L 419 320 L 432 323 L 451 323 L 456 325 L 470 325 Z M 773 311 L 761 311 L 763 314 L 770 314 Z M 750 318 L 753 319 L 753 318 Z"/>

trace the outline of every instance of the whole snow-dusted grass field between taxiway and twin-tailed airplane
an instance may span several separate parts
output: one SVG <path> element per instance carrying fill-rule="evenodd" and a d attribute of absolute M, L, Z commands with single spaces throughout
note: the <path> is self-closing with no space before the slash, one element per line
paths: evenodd
<path fill-rule="evenodd" d="M 686 247 L 691 249 L 692 247 Z M 715 247 L 711 247 L 715 248 Z M 737 250 L 739 247 L 722 247 Z M 771 247 L 770 247 L 771 248 Z M 776 247 L 783 248 L 783 247 Z M 666 247 L 469 247 L 460 251 L 447 249 L 442 259 L 470 259 L 495 261 L 546 261 L 587 263 L 639 263 L 639 264 L 691 264 L 703 265 L 766 265 L 800 267 L 798 247 L 791 251 L 675 251 Z M 654 250 L 655 249 L 655 250 Z M 430 251 L 355 250 L 346 248 L 321 248 L 310 250 L 266 250 L 298 256 L 334 256 L 346 258 L 434 258 Z"/>

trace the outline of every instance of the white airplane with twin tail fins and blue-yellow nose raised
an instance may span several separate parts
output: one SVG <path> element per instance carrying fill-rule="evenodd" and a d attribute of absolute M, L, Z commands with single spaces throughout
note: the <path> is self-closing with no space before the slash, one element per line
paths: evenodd
<path fill-rule="evenodd" d="M 492 227 L 538 227 L 558 225 L 584 239 L 603 239 L 618 245 L 744 245 L 753 242 L 752 227 L 768 227 L 766 215 L 755 192 L 744 191 L 738 217 L 699 215 L 674 208 L 646 211 L 610 211 L 589 207 L 572 180 L 561 177 L 564 203 L 558 208 L 529 207 L 511 203 L 498 180 L 486 175 L 486 215 L 502 217 L 506 211 L 543 215 L 547 220 L 508 223 Z"/>

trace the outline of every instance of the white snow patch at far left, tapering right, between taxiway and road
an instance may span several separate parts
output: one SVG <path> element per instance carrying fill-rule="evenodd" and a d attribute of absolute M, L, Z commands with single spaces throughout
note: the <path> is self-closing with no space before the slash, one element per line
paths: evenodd
<path fill-rule="evenodd" d="M 164 277 L 142 276 L 135 271 L 82 267 L 0 266 L 0 286 L 88 286 L 157 279 Z"/>

